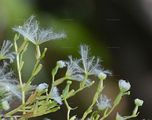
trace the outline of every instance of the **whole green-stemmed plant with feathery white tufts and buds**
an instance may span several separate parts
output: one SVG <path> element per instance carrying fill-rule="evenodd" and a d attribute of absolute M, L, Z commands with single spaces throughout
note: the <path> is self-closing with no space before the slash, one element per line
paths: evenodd
<path fill-rule="evenodd" d="M 87 45 L 80 46 L 80 58 L 69 56 L 69 60 L 59 60 L 51 72 L 51 86 L 47 83 L 33 85 L 32 82 L 42 70 L 42 60 L 45 57 L 47 48 L 40 49 L 41 44 L 51 40 L 63 39 L 66 37 L 64 32 L 54 32 L 53 28 L 40 28 L 38 21 L 31 16 L 22 26 L 13 28 L 16 32 L 13 43 L 4 40 L 0 49 L 0 119 L 1 120 L 28 120 L 33 117 L 58 111 L 63 104 L 67 107 L 67 120 L 105 120 L 121 102 L 122 97 L 130 95 L 131 85 L 126 80 L 118 83 L 119 93 L 112 102 L 106 95 L 103 95 L 104 81 L 111 73 L 105 70 L 99 58 L 89 55 Z M 27 52 L 29 44 L 35 46 L 35 65 L 31 75 L 27 80 L 23 80 L 22 75 L 24 54 Z M 11 51 L 12 49 L 13 52 Z M 16 63 L 16 71 L 10 69 L 10 64 Z M 66 68 L 65 75 L 56 79 L 59 69 Z M 65 69 L 64 69 L 65 70 Z M 94 76 L 97 81 L 91 79 Z M 59 93 L 59 85 L 66 82 L 65 88 Z M 73 89 L 72 84 L 78 82 L 79 87 Z M 68 101 L 79 92 L 91 87 L 95 82 L 98 83 L 96 92 L 89 107 L 82 116 L 71 116 L 72 108 Z M 19 101 L 16 107 L 12 107 L 15 101 Z M 135 108 L 131 115 L 116 115 L 116 120 L 128 120 L 138 116 L 138 108 L 143 105 L 143 101 L 135 99 Z M 95 109 L 96 108 L 96 109 Z M 46 118 L 47 119 L 47 118 Z"/>

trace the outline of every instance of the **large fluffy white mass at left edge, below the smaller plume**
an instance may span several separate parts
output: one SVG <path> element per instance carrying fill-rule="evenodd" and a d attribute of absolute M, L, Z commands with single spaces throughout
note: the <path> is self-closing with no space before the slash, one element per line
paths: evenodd
<path fill-rule="evenodd" d="M 5 93 L 4 99 L 9 100 L 13 96 L 21 99 L 18 83 L 13 78 L 13 72 L 8 72 L 7 63 L 0 67 L 0 91 Z"/>

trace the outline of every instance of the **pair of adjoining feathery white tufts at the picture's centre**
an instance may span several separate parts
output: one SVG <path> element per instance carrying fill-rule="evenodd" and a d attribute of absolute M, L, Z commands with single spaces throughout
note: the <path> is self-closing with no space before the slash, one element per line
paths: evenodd
<path fill-rule="evenodd" d="M 87 45 L 80 46 L 80 59 L 73 59 L 69 56 L 69 61 L 67 64 L 66 75 L 77 81 L 82 81 L 84 79 L 84 74 L 95 75 L 97 77 L 106 78 L 106 74 L 110 74 L 109 71 L 104 70 L 100 64 L 100 59 L 89 56 L 89 47 Z M 102 76 L 101 76 L 102 73 Z"/>

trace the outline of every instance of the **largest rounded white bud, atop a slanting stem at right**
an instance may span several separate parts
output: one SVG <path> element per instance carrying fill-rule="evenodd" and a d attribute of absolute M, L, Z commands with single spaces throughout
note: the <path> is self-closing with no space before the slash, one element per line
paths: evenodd
<path fill-rule="evenodd" d="M 119 89 L 121 92 L 127 92 L 131 88 L 131 85 L 129 82 L 126 82 L 125 80 L 119 80 Z"/>

